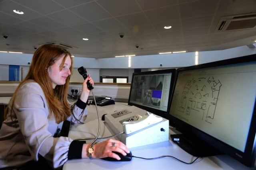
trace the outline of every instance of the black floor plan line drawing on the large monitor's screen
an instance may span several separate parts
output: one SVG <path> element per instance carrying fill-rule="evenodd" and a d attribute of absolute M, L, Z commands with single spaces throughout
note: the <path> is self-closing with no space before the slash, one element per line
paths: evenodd
<path fill-rule="evenodd" d="M 215 80 L 214 76 L 193 77 L 184 86 L 178 111 L 187 116 L 200 115 L 202 120 L 212 123 L 221 86 L 220 80 Z"/>

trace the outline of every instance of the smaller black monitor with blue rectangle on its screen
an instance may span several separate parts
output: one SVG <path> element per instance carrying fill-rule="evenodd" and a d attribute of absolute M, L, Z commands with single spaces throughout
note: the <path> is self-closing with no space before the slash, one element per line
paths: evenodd
<path fill-rule="evenodd" d="M 175 75 L 176 69 L 133 73 L 128 105 L 165 117 L 170 109 Z"/>

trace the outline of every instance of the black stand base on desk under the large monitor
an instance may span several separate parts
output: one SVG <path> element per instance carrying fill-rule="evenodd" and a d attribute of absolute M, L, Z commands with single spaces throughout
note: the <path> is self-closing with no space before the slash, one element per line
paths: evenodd
<path fill-rule="evenodd" d="M 222 154 L 206 142 L 192 136 L 183 134 L 171 135 L 172 141 L 179 145 L 183 150 L 196 157 L 214 156 Z"/>

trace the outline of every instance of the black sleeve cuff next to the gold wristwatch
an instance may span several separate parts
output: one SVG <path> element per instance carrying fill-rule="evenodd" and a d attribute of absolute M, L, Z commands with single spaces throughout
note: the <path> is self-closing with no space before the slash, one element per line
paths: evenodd
<path fill-rule="evenodd" d="M 68 160 L 82 158 L 82 148 L 86 141 L 72 141 L 68 149 Z"/>

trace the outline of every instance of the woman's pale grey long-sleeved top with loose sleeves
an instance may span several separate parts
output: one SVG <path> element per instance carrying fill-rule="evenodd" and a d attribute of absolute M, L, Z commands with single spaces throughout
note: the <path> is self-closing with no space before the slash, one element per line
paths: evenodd
<path fill-rule="evenodd" d="M 87 115 L 85 107 L 86 104 L 78 99 L 67 120 L 72 123 L 84 122 Z M 73 140 L 53 137 L 56 130 L 62 128 L 63 122 L 57 124 L 54 116 L 48 119 L 48 115 L 46 98 L 39 84 L 28 82 L 20 87 L 12 120 L 9 111 L 0 129 L 0 168 L 38 160 L 38 154 L 51 161 L 54 168 L 68 160 Z"/>

